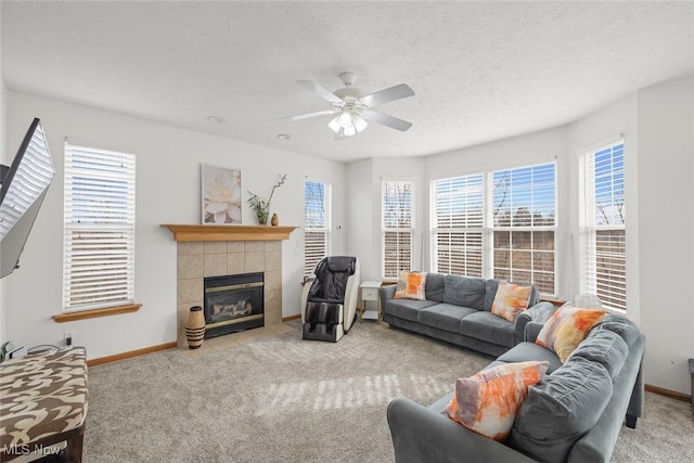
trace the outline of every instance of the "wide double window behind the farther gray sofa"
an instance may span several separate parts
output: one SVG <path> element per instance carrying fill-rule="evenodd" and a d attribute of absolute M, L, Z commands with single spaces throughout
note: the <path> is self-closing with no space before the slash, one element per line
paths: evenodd
<path fill-rule="evenodd" d="M 433 182 L 432 269 L 555 294 L 554 163 Z"/>

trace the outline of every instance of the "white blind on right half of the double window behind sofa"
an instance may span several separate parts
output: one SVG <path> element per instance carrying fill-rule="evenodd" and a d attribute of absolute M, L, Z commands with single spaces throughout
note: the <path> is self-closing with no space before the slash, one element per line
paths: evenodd
<path fill-rule="evenodd" d="M 493 278 L 555 294 L 554 164 L 491 172 Z"/>

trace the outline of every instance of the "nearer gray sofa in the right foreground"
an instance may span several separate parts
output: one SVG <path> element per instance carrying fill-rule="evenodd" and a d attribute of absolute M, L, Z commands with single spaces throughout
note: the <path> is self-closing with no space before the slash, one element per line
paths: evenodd
<path fill-rule="evenodd" d="M 387 412 L 396 461 L 608 462 L 622 424 L 635 427 L 643 411 L 645 339 L 626 318 L 607 316 L 562 364 L 554 352 L 534 343 L 541 327 L 528 323 L 526 340 L 487 366 L 550 363 L 544 378 L 530 387 L 504 442 L 441 414 L 453 393 L 428 408 L 396 399 Z"/>

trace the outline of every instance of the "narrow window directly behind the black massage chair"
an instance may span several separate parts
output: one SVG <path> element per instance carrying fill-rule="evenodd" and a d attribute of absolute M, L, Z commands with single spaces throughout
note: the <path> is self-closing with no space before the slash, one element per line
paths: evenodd
<path fill-rule="evenodd" d="M 331 185 L 307 181 L 304 184 L 304 274 L 331 253 Z"/>

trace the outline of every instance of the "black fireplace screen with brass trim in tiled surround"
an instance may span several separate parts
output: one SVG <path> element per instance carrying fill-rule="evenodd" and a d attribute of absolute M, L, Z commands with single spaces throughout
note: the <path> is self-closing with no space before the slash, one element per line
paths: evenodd
<path fill-rule="evenodd" d="M 264 273 L 205 279 L 205 337 L 262 326 Z"/>

